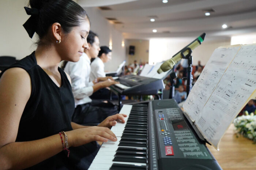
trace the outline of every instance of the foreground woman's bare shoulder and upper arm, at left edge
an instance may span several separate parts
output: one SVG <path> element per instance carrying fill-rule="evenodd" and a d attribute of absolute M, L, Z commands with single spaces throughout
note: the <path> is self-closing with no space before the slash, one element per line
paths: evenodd
<path fill-rule="evenodd" d="M 0 78 L 0 147 L 14 142 L 19 121 L 31 94 L 29 74 L 10 68 Z"/>

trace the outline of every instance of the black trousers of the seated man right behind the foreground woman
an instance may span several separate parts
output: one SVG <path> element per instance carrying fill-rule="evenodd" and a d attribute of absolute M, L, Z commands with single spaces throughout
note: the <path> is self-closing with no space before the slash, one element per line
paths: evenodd
<path fill-rule="evenodd" d="M 91 103 L 76 106 L 72 121 L 77 124 L 99 124 L 106 117 L 116 113 L 118 113 L 116 105 L 93 100 Z"/>

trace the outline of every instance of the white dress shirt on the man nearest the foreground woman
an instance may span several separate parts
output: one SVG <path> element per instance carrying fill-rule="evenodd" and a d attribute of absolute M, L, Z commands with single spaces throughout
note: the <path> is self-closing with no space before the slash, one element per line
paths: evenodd
<path fill-rule="evenodd" d="M 75 107 L 91 102 L 89 96 L 93 94 L 93 82 L 89 82 L 91 72 L 90 63 L 91 61 L 87 54 L 83 53 L 78 62 L 69 61 L 64 68 L 64 71 L 71 77 Z"/>

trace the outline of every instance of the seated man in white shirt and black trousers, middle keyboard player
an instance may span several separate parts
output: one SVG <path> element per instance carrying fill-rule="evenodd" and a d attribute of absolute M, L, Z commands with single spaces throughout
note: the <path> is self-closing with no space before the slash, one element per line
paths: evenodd
<path fill-rule="evenodd" d="M 68 62 L 64 71 L 69 74 L 72 82 L 72 92 L 75 98 L 75 112 L 72 121 L 78 124 L 97 124 L 106 117 L 118 113 L 117 107 L 111 103 L 96 102 L 90 99 L 93 92 L 116 84 L 112 77 L 97 78 L 89 81 L 91 72 L 91 58 L 99 53 L 99 38 L 92 31 L 87 36 L 88 49 L 76 63 Z"/>

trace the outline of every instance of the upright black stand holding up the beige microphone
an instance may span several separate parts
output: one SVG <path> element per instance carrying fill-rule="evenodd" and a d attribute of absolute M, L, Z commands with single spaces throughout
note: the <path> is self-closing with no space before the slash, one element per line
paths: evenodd
<path fill-rule="evenodd" d="M 189 53 L 186 55 L 186 56 L 184 56 L 184 52 L 186 51 L 186 50 L 189 50 Z M 191 91 L 191 89 L 192 89 L 192 81 L 193 81 L 193 76 L 192 76 L 192 61 L 193 61 L 193 57 L 191 56 L 191 53 L 192 53 L 192 50 L 191 50 L 191 48 L 186 48 L 186 49 L 183 49 L 182 51 L 181 51 L 181 56 L 182 56 L 182 58 L 185 58 L 185 59 L 187 59 L 188 60 L 188 68 L 187 68 L 187 86 L 186 86 L 186 91 L 187 91 L 187 97 L 188 97 L 188 94 L 189 94 L 189 92 Z"/>

